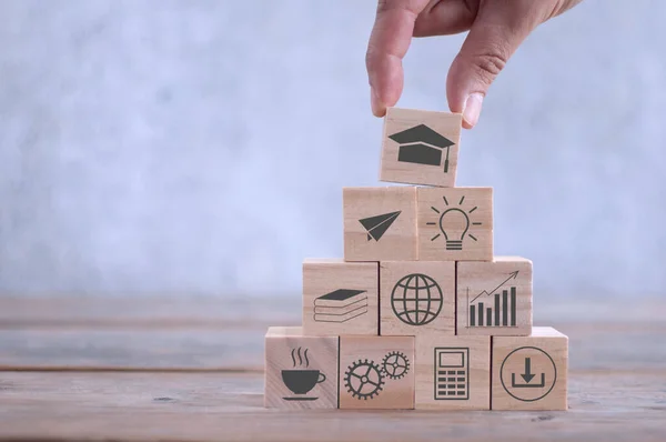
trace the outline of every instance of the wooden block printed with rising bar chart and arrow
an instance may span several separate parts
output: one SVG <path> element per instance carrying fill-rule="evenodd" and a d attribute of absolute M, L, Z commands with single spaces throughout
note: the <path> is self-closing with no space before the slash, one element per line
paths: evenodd
<path fill-rule="evenodd" d="M 457 263 L 457 334 L 532 333 L 532 261 L 495 257 Z"/>

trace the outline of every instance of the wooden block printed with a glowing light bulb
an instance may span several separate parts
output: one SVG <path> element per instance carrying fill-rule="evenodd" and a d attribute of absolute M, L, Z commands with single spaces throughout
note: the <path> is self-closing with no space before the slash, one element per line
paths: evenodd
<path fill-rule="evenodd" d="M 492 188 L 418 188 L 418 259 L 491 261 Z"/>

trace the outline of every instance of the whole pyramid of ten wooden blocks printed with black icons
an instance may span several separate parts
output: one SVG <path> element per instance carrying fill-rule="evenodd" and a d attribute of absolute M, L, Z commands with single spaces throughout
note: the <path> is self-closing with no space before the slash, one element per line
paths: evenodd
<path fill-rule="evenodd" d="M 457 188 L 462 118 L 389 109 L 380 179 L 343 189 L 343 259 L 303 262 L 265 336 L 281 409 L 566 410 L 568 339 L 532 324 L 532 261 L 493 253 L 493 189 Z"/>

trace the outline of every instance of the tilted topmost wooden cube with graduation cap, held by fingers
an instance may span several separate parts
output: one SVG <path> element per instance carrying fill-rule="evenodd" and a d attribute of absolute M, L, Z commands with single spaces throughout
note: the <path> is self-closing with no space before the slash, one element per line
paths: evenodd
<path fill-rule="evenodd" d="M 462 122 L 460 113 L 387 109 L 380 180 L 455 185 Z"/>

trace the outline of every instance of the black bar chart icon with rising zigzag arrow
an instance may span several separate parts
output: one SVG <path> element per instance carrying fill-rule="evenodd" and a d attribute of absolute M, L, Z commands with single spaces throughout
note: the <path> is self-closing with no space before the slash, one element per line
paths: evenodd
<path fill-rule="evenodd" d="M 517 270 L 511 272 L 508 278 L 496 288 L 491 291 L 484 290 L 472 299 L 470 299 L 470 288 L 467 288 L 467 305 L 470 308 L 467 328 L 516 327 L 517 288 L 515 283 L 505 284 L 517 277 Z M 500 293 L 501 289 L 502 293 Z M 491 303 L 493 307 L 490 307 Z"/>

